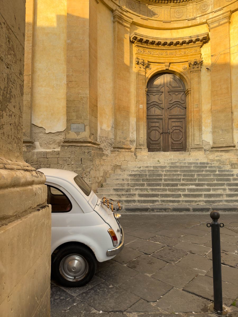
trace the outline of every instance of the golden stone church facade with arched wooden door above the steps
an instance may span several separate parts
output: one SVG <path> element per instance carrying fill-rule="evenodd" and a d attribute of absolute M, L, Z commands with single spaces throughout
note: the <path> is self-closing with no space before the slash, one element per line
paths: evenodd
<path fill-rule="evenodd" d="M 235 0 L 27 0 L 26 162 L 76 171 L 93 189 L 149 152 L 236 167 L 237 9 Z"/>

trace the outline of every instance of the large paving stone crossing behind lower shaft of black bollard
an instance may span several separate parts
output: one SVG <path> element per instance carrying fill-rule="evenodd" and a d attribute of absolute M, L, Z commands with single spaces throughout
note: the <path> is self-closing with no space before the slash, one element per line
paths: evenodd
<path fill-rule="evenodd" d="M 213 278 L 205 275 L 198 275 L 188 283 L 184 290 L 202 296 L 210 301 L 213 301 Z M 230 306 L 237 298 L 238 288 L 234 284 L 227 282 L 222 283 L 222 299 L 223 304 Z"/>

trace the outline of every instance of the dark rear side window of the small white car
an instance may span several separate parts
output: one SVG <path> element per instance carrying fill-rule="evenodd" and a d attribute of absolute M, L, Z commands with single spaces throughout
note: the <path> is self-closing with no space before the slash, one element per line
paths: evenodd
<path fill-rule="evenodd" d="M 47 189 L 47 204 L 51 204 L 52 212 L 69 212 L 72 209 L 72 204 L 63 191 L 50 185 L 47 185 Z"/>

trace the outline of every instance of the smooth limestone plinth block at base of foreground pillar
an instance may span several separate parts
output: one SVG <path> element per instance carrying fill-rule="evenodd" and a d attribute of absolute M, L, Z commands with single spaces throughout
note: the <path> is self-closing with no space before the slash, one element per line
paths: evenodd
<path fill-rule="evenodd" d="M 0 228 L 3 316 L 50 316 L 50 239 L 50 206 Z"/>

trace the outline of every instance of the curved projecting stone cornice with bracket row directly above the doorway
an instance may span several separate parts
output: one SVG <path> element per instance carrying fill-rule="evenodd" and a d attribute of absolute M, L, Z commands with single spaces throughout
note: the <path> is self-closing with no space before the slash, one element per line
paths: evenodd
<path fill-rule="evenodd" d="M 194 43 L 201 43 L 201 46 L 204 43 L 209 41 L 209 34 L 203 33 L 194 36 L 187 37 L 177 37 L 177 38 L 159 38 L 153 36 L 145 36 L 139 33 L 133 32 L 130 36 L 130 41 L 132 43 L 142 43 L 145 45 L 151 46 L 179 46 L 179 45 L 189 45 Z"/>

